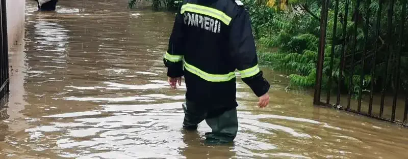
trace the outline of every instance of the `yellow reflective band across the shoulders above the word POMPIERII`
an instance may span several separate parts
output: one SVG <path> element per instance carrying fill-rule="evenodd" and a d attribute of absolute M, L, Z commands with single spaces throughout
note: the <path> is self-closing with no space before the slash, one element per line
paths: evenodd
<path fill-rule="evenodd" d="M 224 22 L 226 25 L 230 25 L 230 22 L 232 19 L 231 17 L 227 16 L 225 13 L 219 10 L 216 10 L 210 7 L 200 6 L 200 5 L 185 4 L 182 6 L 180 13 L 183 14 L 186 11 L 198 13 L 198 14 L 204 14 L 204 15 L 208 15 L 208 16 L 217 18 L 221 20 L 222 22 Z"/>

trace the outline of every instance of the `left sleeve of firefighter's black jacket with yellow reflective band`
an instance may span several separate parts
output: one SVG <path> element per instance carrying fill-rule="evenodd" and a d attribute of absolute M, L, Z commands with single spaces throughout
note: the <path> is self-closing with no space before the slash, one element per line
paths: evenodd
<path fill-rule="evenodd" d="M 171 31 L 168 50 L 164 54 L 163 62 L 167 67 L 168 77 L 182 77 L 183 58 L 184 58 L 184 29 L 183 29 L 183 15 L 180 13 L 181 7 L 176 14 L 173 30 Z"/>

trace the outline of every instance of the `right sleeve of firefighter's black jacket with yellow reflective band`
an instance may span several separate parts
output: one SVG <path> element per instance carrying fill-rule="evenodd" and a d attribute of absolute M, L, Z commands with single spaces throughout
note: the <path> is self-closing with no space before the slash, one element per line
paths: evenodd
<path fill-rule="evenodd" d="M 238 8 L 230 31 L 230 56 L 235 68 L 241 74 L 242 80 L 258 97 L 261 97 L 268 92 L 270 84 L 258 68 L 257 51 L 249 15 L 243 7 Z"/>

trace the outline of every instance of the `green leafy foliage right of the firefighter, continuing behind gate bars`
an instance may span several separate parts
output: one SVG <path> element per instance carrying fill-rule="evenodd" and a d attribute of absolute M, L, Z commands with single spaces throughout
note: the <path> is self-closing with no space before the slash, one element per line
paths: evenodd
<path fill-rule="evenodd" d="M 254 30 L 254 35 L 259 39 L 259 44 L 266 47 L 277 48 L 276 52 L 259 53 L 259 58 L 268 65 L 271 65 L 276 70 L 287 71 L 290 73 L 291 85 L 313 87 L 316 78 L 316 62 L 317 51 L 319 46 L 320 36 L 320 12 L 321 2 L 315 0 L 267 0 L 266 2 L 244 0 L 247 10 L 251 16 L 251 23 Z M 387 9 L 389 1 L 382 4 L 380 34 L 378 43 L 377 60 L 373 61 L 372 56 L 375 52 L 375 25 L 377 20 L 377 12 L 379 8 L 378 1 L 361 1 L 359 8 L 359 16 L 355 17 L 356 1 L 349 1 L 349 8 L 347 14 L 346 32 L 343 34 L 344 10 L 346 0 L 339 1 L 339 14 L 337 21 L 335 21 L 335 1 L 330 1 L 328 16 L 327 16 L 327 30 L 326 30 L 326 46 L 323 62 L 323 87 L 326 88 L 329 77 L 333 80 L 331 88 L 336 88 L 338 83 L 342 90 L 348 90 L 359 95 L 360 88 L 368 91 L 372 84 L 374 87 L 381 85 L 389 85 L 393 87 L 395 84 L 394 76 L 389 76 L 388 83 L 382 83 L 385 76 L 385 59 L 393 52 L 390 59 L 390 67 L 388 74 L 395 70 L 396 55 L 398 50 L 398 29 L 401 27 L 399 20 L 401 12 L 407 14 L 407 10 L 403 11 L 401 2 L 397 1 L 394 6 L 392 35 L 387 34 L 389 17 Z M 286 7 L 282 7 L 282 4 Z M 285 9 L 284 9 L 285 8 Z M 369 11 L 367 10 L 369 9 Z M 367 13 L 370 18 L 366 19 Z M 358 22 L 355 23 L 354 19 Z M 405 16 L 405 19 L 408 19 Z M 369 21 L 368 39 L 365 39 L 365 24 Z M 397 22 L 398 21 L 398 22 Z M 336 32 L 333 32 L 334 26 L 337 26 Z M 356 28 L 356 35 L 354 36 L 354 27 Z M 405 23 L 405 28 L 408 23 Z M 391 39 L 387 37 L 390 36 Z M 406 37 L 408 34 L 404 33 L 401 37 Z M 336 37 L 334 41 L 334 37 Z M 354 45 L 354 38 L 355 45 Z M 367 54 L 362 56 L 365 48 L 365 41 L 368 41 Z M 340 78 L 340 57 L 342 55 L 342 43 L 345 44 L 345 68 L 343 70 L 343 77 Z M 406 43 L 406 40 L 402 42 Z M 332 46 L 333 44 L 333 46 Z M 390 45 L 390 50 L 387 50 L 387 44 Z M 334 47 L 333 52 L 331 47 Z M 351 63 L 351 54 L 355 48 L 355 55 L 353 63 Z M 401 48 L 401 82 L 404 89 L 408 88 L 408 57 L 406 57 L 406 47 Z M 331 59 L 333 54 L 334 58 Z M 361 62 L 365 58 L 365 66 L 361 67 Z M 333 60 L 333 71 L 330 71 L 330 60 Z M 373 63 L 375 62 L 375 76 L 374 81 L 371 81 L 371 72 L 373 70 Z M 351 67 L 352 64 L 355 67 Z M 331 73 L 331 74 L 330 74 Z M 363 82 L 361 84 L 361 75 L 364 74 Z M 351 82 L 350 82 L 351 80 Z M 350 85 L 351 83 L 351 85 Z M 395 86 L 394 86 L 395 87 Z M 360 94 L 361 95 L 361 94 Z"/>

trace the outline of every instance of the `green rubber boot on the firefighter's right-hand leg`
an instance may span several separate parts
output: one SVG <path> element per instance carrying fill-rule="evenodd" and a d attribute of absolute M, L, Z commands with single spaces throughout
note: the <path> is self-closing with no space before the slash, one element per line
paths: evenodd
<path fill-rule="evenodd" d="M 238 132 L 237 108 L 225 111 L 219 116 L 206 119 L 212 129 L 206 133 L 207 144 L 232 143 Z"/>

